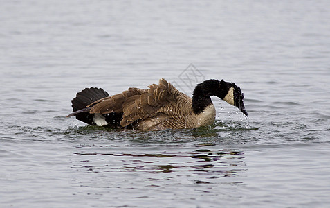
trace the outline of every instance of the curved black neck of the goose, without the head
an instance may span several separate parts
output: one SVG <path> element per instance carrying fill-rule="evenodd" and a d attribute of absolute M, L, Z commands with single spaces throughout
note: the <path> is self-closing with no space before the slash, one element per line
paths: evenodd
<path fill-rule="evenodd" d="M 195 114 L 200 114 L 212 104 L 210 96 L 215 96 L 218 89 L 219 80 L 206 80 L 195 87 L 192 94 L 192 110 Z"/>

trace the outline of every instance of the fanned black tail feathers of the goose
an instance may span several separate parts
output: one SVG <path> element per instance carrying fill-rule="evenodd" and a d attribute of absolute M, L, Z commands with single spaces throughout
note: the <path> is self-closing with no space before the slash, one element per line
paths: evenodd
<path fill-rule="evenodd" d="M 71 101 L 73 113 L 68 116 L 75 116 L 78 120 L 90 125 L 95 124 L 93 122 L 94 115 L 89 113 L 91 107 L 86 106 L 105 97 L 109 97 L 109 94 L 101 88 L 85 88 L 82 92 L 78 92 Z"/>

